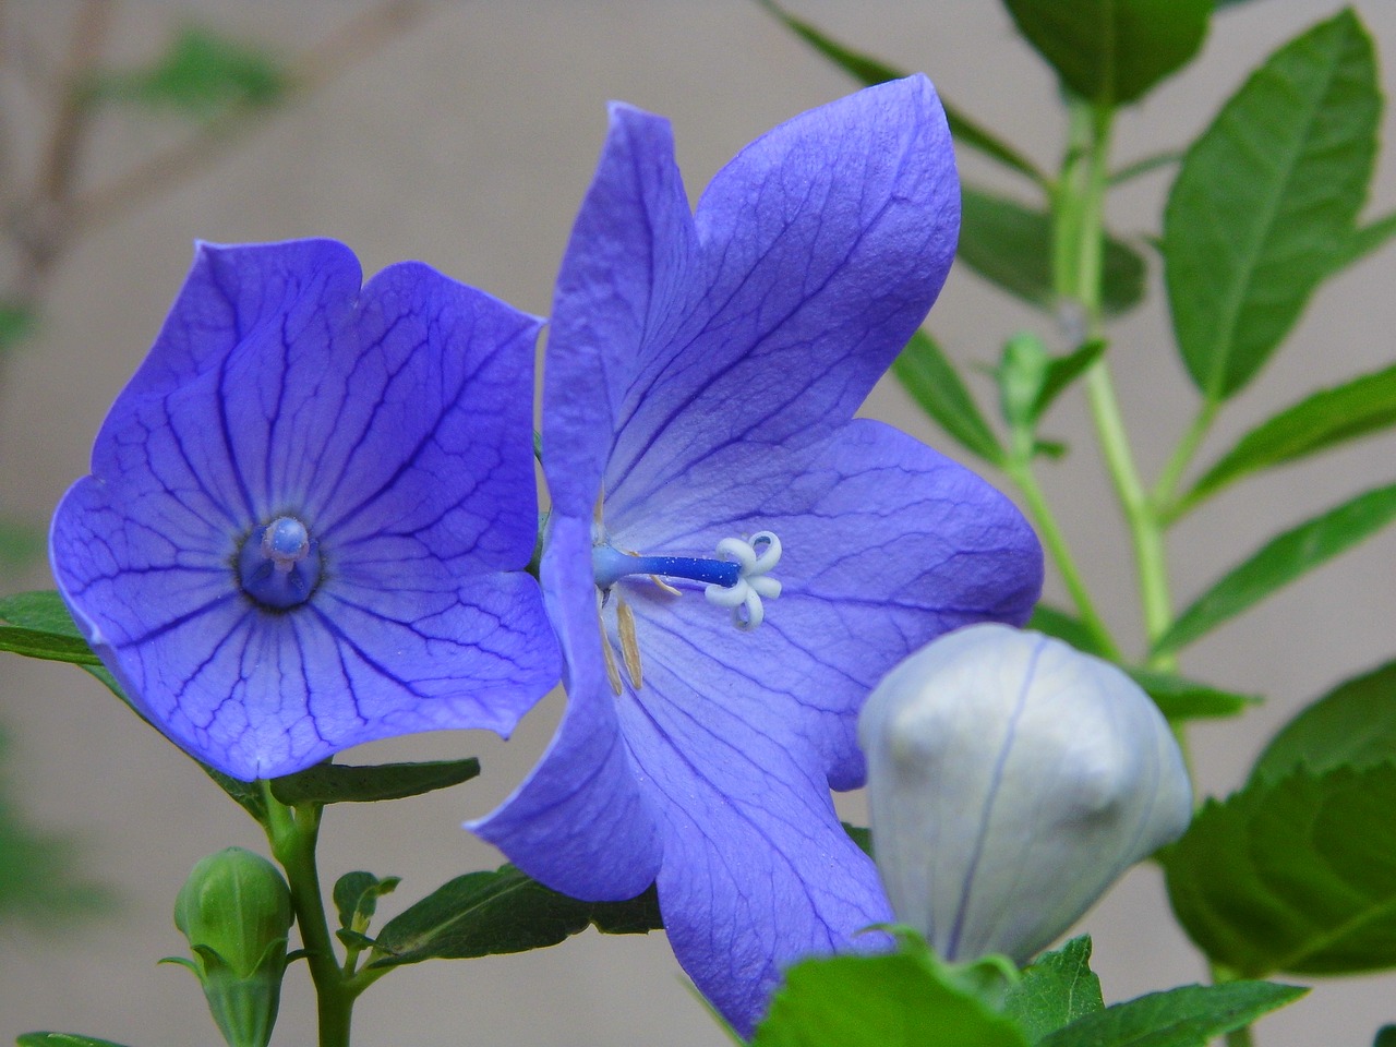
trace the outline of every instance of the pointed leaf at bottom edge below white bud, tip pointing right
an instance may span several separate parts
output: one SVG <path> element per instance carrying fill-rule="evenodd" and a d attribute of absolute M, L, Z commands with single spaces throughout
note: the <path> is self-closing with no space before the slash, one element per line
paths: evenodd
<path fill-rule="evenodd" d="M 1114 1004 L 1040 1040 L 1041 1047 L 1205 1047 L 1308 990 L 1270 981 L 1181 986 Z"/>

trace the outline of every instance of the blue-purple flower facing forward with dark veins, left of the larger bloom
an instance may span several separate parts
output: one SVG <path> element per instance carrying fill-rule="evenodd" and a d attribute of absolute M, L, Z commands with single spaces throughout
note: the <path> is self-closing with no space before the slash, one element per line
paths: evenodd
<path fill-rule="evenodd" d="M 558 676 L 537 585 L 539 321 L 342 244 L 201 244 L 50 553 L 140 712 L 235 778 L 507 733 Z"/>

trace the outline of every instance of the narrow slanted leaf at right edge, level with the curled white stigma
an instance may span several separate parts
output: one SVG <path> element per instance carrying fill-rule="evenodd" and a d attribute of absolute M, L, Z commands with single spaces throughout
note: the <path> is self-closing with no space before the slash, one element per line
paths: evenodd
<path fill-rule="evenodd" d="M 1396 519 L 1396 484 L 1378 487 L 1272 539 L 1199 596 L 1153 653 L 1167 653 L 1206 635 L 1315 567 L 1332 560 Z"/>

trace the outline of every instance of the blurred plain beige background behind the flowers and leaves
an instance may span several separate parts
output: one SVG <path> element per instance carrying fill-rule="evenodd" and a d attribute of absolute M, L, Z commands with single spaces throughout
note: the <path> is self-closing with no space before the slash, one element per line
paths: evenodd
<path fill-rule="evenodd" d="M 926 70 L 946 98 L 1055 163 L 1061 119 L 1054 82 L 990 0 L 790 0 L 842 39 L 907 68 Z M 117 6 L 109 54 L 145 57 L 181 15 L 274 42 L 286 53 L 324 39 L 370 4 L 140 3 Z M 1396 4 L 1358 11 L 1396 61 Z M 67 36 L 71 6 L 11 0 L 10 28 L 45 46 Z M 1326 0 L 1254 0 L 1220 14 L 1196 66 L 1120 121 L 1121 162 L 1195 134 L 1265 53 L 1336 10 Z M 1390 85 L 1388 74 L 1383 82 Z M 141 360 L 190 260 L 195 237 L 239 242 L 324 235 L 346 240 L 369 272 L 422 258 L 522 309 L 546 313 L 551 278 L 604 128 L 620 98 L 673 117 L 690 191 L 762 130 L 850 89 L 838 71 L 744 0 L 515 0 L 430 7 L 332 85 L 272 116 L 226 158 L 84 240 L 54 272 L 42 336 L 6 370 L 0 388 L 0 508 L 43 519 L 87 470 L 91 438 Z M 15 156 L 35 148 L 34 114 L 6 113 Z M 1386 140 L 1393 120 L 1386 116 Z M 177 124 L 114 120 L 92 144 L 94 183 L 176 140 Z M 1000 188 L 969 159 L 970 176 Z M 1113 225 L 1157 229 L 1168 174 L 1118 194 Z M 1396 205 L 1396 159 L 1382 161 L 1368 214 Z M 1389 364 L 1396 329 L 1396 248 L 1328 285 L 1286 349 L 1241 395 L 1205 456 L 1318 384 Z M 1019 327 L 1055 336 L 1043 317 L 1008 303 L 958 269 L 931 328 L 965 362 L 988 362 Z M 1157 271 L 1150 300 L 1114 331 L 1124 412 L 1146 475 L 1161 465 L 1192 408 L 1167 338 Z M 987 392 L 979 385 L 979 391 Z M 1044 468 L 1050 493 L 1107 617 L 1141 635 L 1132 571 L 1117 512 L 1068 395 L 1048 431 L 1075 454 Z M 892 383 L 867 412 L 944 447 Z M 1389 483 L 1389 437 L 1277 472 L 1217 498 L 1170 543 L 1180 603 L 1251 551 L 1262 535 Z M 1396 530 L 1347 554 L 1231 624 L 1185 658 L 1192 674 L 1269 697 L 1238 723 L 1198 729 L 1199 786 L 1235 786 L 1263 737 L 1336 680 L 1396 653 Z M 13 588 L 49 588 L 36 567 Z M 1055 582 L 1048 593 L 1060 592 Z M 498 856 L 459 829 L 525 773 L 550 736 L 556 698 L 515 741 L 436 736 L 380 743 L 362 759 L 477 754 L 476 783 L 325 819 L 322 871 L 403 878 L 384 910 Z M 174 892 L 202 854 L 262 847 L 255 826 L 186 758 L 67 666 L 0 656 L 0 723 L 13 734 L 8 771 L 27 814 L 80 836 L 94 875 L 123 898 L 106 920 L 49 935 L 6 928 L 0 940 L 0 1041 L 31 1029 L 70 1029 L 133 1047 L 214 1044 L 204 1001 L 177 967 Z M 860 801 L 847 811 L 859 817 Z M 1107 998 L 1203 977 L 1167 913 L 1153 870 L 1131 874 L 1082 924 L 1096 938 Z M 1390 976 L 1329 983 L 1263 1023 L 1266 1047 L 1367 1044 L 1396 1020 Z M 314 1039 L 302 967 L 288 977 L 275 1043 Z M 362 1044 L 537 1044 L 718 1047 L 716 1026 L 691 997 L 662 935 L 586 934 L 550 951 L 487 962 L 403 969 L 376 986 L 356 1019 Z"/>

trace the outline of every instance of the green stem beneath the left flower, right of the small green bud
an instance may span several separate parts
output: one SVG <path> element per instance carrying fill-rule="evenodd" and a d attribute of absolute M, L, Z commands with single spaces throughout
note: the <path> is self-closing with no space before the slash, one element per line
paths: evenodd
<path fill-rule="evenodd" d="M 286 807 L 262 783 L 267 799 L 267 838 L 271 852 L 286 870 L 290 902 L 306 948 L 310 979 L 315 984 L 320 1019 L 320 1047 L 349 1047 L 349 1025 L 357 993 L 346 983 L 335 959 L 329 921 L 315 868 L 315 843 L 320 838 L 320 807 Z"/>

